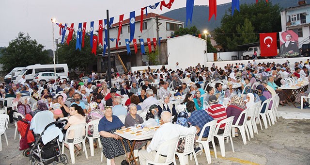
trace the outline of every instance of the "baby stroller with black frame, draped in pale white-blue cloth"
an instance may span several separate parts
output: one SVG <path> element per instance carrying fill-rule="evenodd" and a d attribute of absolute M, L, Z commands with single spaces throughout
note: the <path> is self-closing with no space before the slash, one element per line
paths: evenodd
<path fill-rule="evenodd" d="M 30 150 L 30 165 L 53 165 L 68 163 L 65 154 L 61 154 L 59 142 L 62 142 L 62 131 L 55 126 L 66 120 L 54 121 L 53 113 L 41 111 L 33 116 L 30 129 L 33 130 L 35 143 Z"/>

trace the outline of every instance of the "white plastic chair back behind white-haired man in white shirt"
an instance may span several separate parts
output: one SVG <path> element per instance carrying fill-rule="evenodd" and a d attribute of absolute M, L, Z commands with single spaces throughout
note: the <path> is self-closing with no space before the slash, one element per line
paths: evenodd
<path fill-rule="evenodd" d="M 173 162 L 173 160 L 175 159 L 174 155 L 176 152 L 178 141 L 179 141 L 179 137 L 175 137 L 173 139 L 166 140 L 165 142 L 163 142 L 159 146 L 159 148 L 156 152 L 154 161 L 157 163 L 160 155 L 166 155 L 167 157 L 166 157 L 165 163 L 171 164 Z M 163 153 L 163 150 L 167 150 L 167 153 Z"/>

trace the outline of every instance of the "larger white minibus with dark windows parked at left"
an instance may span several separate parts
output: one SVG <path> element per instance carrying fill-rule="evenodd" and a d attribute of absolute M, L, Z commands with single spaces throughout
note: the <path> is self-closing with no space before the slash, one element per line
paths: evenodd
<path fill-rule="evenodd" d="M 25 76 L 26 81 L 32 81 L 34 75 L 39 72 L 54 72 L 54 64 L 35 64 L 24 68 L 19 75 L 12 77 L 12 81 L 16 84 L 22 76 Z M 69 76 L 69 69 L 67 64 L 56 64 L 56 73 L 59 76 Z"/>

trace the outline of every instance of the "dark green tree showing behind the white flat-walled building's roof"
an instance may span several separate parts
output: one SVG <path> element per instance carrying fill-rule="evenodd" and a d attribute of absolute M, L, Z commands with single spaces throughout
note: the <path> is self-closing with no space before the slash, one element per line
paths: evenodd
<path fill-rule="evenodd" d="M 175 36 L 182 36 L 182 35 L 186 35 L 186 34 L 190 34 L 190 35 L 194 35 L 196 37 L 198 37 L 200 33 L 200 31 L 196 28 L 196 26 L 192 26 L 189 29 L 188 28 L 180 28 L 178 31 L 175 31 L 174 34 L 172 35 L 172 37 Z M 201 36 L 202 39 L 205 39 L 205 35 Z M 214 48 L 211 44 L 211 40 L 209 37 L 207 37 L 207 47 L 208 47 L 208 52 L 217 52 L 217 49 Z"/>

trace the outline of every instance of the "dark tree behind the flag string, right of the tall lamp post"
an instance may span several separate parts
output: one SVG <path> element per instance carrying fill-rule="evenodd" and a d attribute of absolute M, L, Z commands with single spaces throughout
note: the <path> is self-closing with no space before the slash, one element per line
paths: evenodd
<path fill-rule="evenodd" d="M 92 54 L 90 36 L 86 34 L 84 39 L 84 48 L 81 48 L 81 50 L 76 50 L 76 33 L 73 33 L 72 40 L 69 45 L 66 43 L 58 44 L 56 54 L 58 55 L 59 63 L 66 63 L 69 68 L 79 68 L 81 70 L 90 71 L 90 66 L 93 66 L 93 64 L 96 63 L 96 57 Z M 96 54 L 100 54 L 102 52 L 102 47 L 97 46 Z"/>

